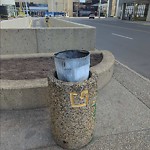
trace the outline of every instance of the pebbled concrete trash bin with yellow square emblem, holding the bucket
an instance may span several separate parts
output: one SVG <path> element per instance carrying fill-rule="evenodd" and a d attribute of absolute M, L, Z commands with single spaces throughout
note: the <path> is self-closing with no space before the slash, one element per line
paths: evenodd
<path fill-rule="evenodd" d="M 48 77 L 51 131 L 55 142 L 66 149 L 80 149 L 93 136 L 97 74 L 83 82 L 64 82 L 57 74 Z"/>

